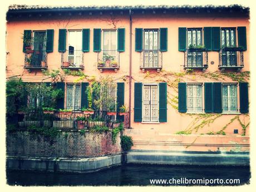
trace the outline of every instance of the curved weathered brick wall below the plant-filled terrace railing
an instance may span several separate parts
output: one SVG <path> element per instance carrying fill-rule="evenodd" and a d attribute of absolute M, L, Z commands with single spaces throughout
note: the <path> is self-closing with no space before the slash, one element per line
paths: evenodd
<path fill-rule="evenodd" d="M 7 133 L 7 155 L 27 157 L 96 157 L 121 152 L 120 134 L 112 143 L 112 133 L 81 135 L 77 131 L 62 131 L 55 139 L 33 135 L 27 131 Z"/>

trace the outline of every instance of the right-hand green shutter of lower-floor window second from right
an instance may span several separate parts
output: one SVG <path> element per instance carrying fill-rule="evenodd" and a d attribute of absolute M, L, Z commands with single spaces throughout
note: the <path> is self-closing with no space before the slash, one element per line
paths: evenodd
<path fill-rule="evenodd" d="M 213 83 L 204 83 L 204 111 L 213 112 Z"/>

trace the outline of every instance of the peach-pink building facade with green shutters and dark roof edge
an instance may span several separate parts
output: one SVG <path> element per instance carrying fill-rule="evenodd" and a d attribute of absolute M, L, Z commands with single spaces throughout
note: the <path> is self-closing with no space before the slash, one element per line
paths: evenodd
<path fill-rule="evenodd" d="M 12 6 L 6 74 L 38 83 L 42 70 L 111 76 L 134 150 L 249 151 L 249 28 L 248 9 L 237 6 Z M 57 80 L 59 108 L 83 107 L 89 82 L 77 78 Z"/>

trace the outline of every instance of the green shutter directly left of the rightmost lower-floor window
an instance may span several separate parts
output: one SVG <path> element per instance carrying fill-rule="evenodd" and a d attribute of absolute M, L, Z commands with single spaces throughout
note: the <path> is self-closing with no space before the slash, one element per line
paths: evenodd
<path fill-rule="evenodd" d="M 213 83 L 213 111 L 217 113 L 222 112 L 222 84 Z"/>

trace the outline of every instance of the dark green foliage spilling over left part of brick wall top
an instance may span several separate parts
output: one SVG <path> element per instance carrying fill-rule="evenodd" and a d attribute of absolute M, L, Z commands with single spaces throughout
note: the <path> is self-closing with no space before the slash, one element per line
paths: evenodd
<path fill-rule="evenodd" d="M 39 134 L 46 137 L 50 137 L 51 139 L 55 139 L 57 136 L 60 135 L 60 130 L 56 127 L 37 127 L 35 125 L 31 125 L 27 127 L 28 132 L 32 134 Z"/>

